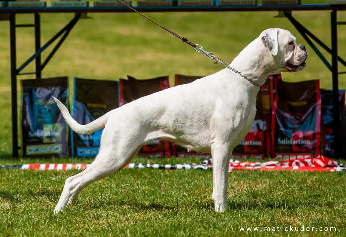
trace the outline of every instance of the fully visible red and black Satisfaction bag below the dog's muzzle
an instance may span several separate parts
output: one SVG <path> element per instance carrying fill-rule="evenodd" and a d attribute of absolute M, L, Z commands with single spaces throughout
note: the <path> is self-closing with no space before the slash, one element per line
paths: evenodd
<path fill-rule="evenodd" d="M 319 81 L 290 83 L 275 80 L 274 87 L 276 94 L 271 130 L 273 156 L 320 155 L 323 136 Z"/>

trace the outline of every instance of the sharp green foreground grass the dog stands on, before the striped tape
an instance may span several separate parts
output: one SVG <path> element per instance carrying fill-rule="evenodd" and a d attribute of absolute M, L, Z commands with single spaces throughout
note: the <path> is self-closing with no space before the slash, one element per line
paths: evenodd
<path fill-rule="evenodd" d="M 176 162 L 182 160 L 170 160 Z M 76 173 L 0 170 L 0 236 L 258 236 L 239 228 L 289 225 L 336 231 L 261 235 L 345 235 L 344 173 L 231 173 L 227 211 L 218 214 L 210 200 L 211 172 L 122 170 L 53 215 L 64 180 Z"/>

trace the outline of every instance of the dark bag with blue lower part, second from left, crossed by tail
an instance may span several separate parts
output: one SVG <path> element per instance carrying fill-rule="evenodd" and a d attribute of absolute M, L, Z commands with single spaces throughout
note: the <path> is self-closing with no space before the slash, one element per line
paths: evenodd
<path fill-rule="evenodd" d="M 74 78 L 72 117 L 88 124 L 118 107 L 119 86 L 116 81 Z M 97 155 L 103 129 L 92 134 L 71 130 L 71 154 L 76 157 Z"/>

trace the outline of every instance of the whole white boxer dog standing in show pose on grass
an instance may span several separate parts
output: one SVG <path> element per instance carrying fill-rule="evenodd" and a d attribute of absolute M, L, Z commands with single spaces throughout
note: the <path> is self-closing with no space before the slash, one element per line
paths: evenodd
<path fill-rule="evenodd" d="M 140 147 L 168 139 L 189 151 L 211 152 L 215 211 L 227 204 L 228 163 L 233 148 L 248 133 L 256 114 L 256 95 L 268 75 L 305 67 L 305 46 L 287 30 L 267 29 L 233 60 L 230 67 L 190 84 L 175 86 L 125 104 L 80 125 L 55 101 L 69 126 L 79 134 L 104 128 L 95 161 L 66 179 L 54 212 L 74 204 L 87 185 L 121 170 Z M 250 80 L 251 82 L 249 82 Z M 102 91 L 100 91 L 102 93 Z"/>

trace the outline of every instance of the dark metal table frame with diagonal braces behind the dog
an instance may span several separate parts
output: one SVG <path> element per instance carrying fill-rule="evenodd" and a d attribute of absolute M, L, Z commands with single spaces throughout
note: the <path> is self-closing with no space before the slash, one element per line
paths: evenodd
<path fill-rule="evenodd" d="M 346 4 L 344 5 L 330 5 L 330 4 L 308 4 L 308 5 L 291 5 L 291 6 L 214 6 L 214 7 L 137 7 L 141 12 L 193 12 L 193 11 L 284 11 L 285 17 L 295 26 L 298 32 L 303 36 L 307 43 L 312 47 L 315 53 L 320 57 L 326 67 L 332 72 L 332 85 L 333 85 L 333 104 L 334 104 L 334 144 L 336 157 L 342 157 L 341 154 L 341 121 L 338 119 L 339 106 L 338 106 L 338 74 L 346 72 L 338 72 L 338 62 L 346 66 L 346 61 L 338 56 L 338 40 L 337 40 L 337 25 L 346 24 L 346 22 L 337 22 L 337 11 L 346 10 Z M 292 17 L 291 11 L 307 11 L 307 10 L 330 10 L 331 11 L 331 39 L 332 46 L 329 48 L 314 34 L 312 34 L 307 28 L 300 24 L 295 18 Z M 39 13 L 61 13 L 71 12 L 76 13 L 75 17 L 55 36 L 53 36 L 42 47 L 40 45 L 40 15 Z M 38 7 L 38 8 L 0 8 L 0 14 L 10 14 L 10 51 L 11 51 L 11 92 L 12 92 L 12 146 L 13 157 L 18 156 L 18 127 L 17 127 L 17 75 L 35 74 L 36 79 L 41 78 L 41 71 L 47 65 L 49 60 L 53 57 L 54 53 L 59 49 L 63 41 L 69 35 L 74 25 L 80 19 L 81 13 L 87 12 L 131 12 L 124 7 Z M 15 24 L 16 13 L 34 13 L 34 24 Z M 35 27 L 35 50 L 36 52 L 26 60 L 18 69 L 16 65 L 16 32 L 15 27 Z M 64 33 L 64 34 L 63 34 Z M 63 34 L 63 35 L 62 35 Z M 41 53 L 51 45 L 59 36 L 62 37 L 53 48 L 51 53 L 47 56 L 44 62 L 41 64 Z M 318 45 L 325 49 L 332 56 L 332 62 L 329 63 L 326 57 L 313 43 L 314 40 Z M 33 73 L 21 73 L 21 71 L 35 59 L 36 67 Z M 344 156 L 344 155 L 343 155 Z"/>

